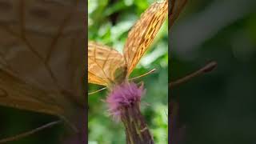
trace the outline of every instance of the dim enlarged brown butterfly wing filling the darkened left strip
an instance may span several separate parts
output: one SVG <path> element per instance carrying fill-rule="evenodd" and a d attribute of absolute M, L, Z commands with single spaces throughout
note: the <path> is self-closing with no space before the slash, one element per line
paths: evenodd
<path fill-rule="evenodd" d="M 85 131 L 85 12 L 82 0 L 0 2 L 0 106 Z"/>

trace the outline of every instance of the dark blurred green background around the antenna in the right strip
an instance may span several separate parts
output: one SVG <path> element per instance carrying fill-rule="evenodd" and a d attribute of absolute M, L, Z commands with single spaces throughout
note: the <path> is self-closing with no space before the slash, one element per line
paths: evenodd
<path fill-rule="evenodd" d="M 170 36 L 170 79 L 218 67 L 170 93 L 179 103 L 187 144 L 256 142 L 254 0 L 189 1 Z"/>

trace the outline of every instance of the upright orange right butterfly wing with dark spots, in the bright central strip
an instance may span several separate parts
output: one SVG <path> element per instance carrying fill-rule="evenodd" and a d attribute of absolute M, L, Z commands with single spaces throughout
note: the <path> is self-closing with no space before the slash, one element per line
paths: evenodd
<path fill-rule="evenodd" d="M 135 23 L 128 34 L 124 48 L 128 74 L 153 42 L 168 14 L 168 1 L 153 3 Z"/>

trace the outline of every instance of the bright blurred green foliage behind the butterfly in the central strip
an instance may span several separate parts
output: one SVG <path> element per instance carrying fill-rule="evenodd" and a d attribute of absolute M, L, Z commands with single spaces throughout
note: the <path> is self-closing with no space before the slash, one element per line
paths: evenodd
<path fill-rule="evenodd" d="M 100 42 L 112 46 L 122 53 L 128 31 L 140 14 L 154 0 L 89 0 L 89 27 L 88 38 L 90 41 Z M 145 56 L 141 59 L 130 78 L 141 75 L 156 68 L 154 74 L 139 78 L 144 82 L 146 94 L 142 98 L 142 114 L 150 126 L 156 143 L 167 143 L 168 123 L 168 34 L 167 21 L 159 31 L 154 44 L 150 46 Z M 89 85 L 89 92 L 101 87 Z M 125 131 L 121 122 L 115 122 L 107 114 L 107 91 L 90 95 L 89 103 L 89 143 L 90 144 L 120 144 L 126 143 Z"/>

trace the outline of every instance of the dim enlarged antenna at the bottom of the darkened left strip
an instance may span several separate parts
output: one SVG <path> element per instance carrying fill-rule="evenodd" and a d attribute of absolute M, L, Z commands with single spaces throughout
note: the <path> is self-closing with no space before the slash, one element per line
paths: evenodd
<path fill-rule="evenodd" d="M 34 130 L 30 130 L 30 131 L 24 132 L 22 134 L 17 134 L 17 135 L 14 135 L 12 137 L 9 137 L 9 138 L 3 138 L 3 139 L 0 140 L 0 143 L 6 143 L 6 142 L 15 141 L 15 140 L 20 139 L 20 138 L 25 138 L 25 137 L 27 137 L 31 134 L 37 133 L 40 130 L 44 130 L 46 128 L 50 128 L 52 126 L 58 125 L 61 122 L 62 122 L 61 120 L 54 121 L 54 122 L 49 122 L 46 125 L 35 128 Z"/>

